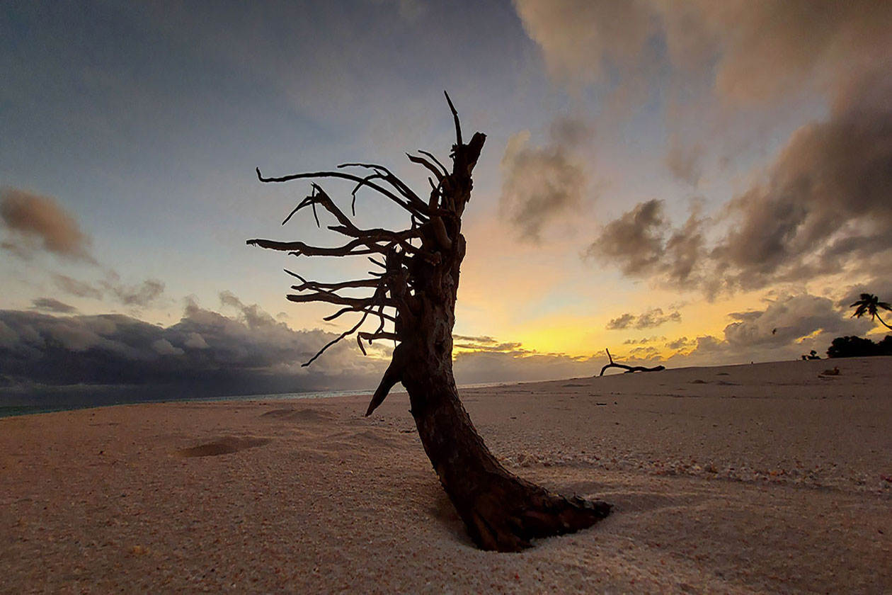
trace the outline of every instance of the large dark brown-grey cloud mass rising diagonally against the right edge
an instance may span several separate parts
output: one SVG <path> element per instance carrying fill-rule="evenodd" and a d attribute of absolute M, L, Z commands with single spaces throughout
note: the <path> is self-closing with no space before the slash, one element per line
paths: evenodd
<path fill-rule="evenodd" d="M 728 206 L 713 251 L 744 288 L 837 272 L 892 249 L 892 79 L 865 79 L 830 119 L 799 128 L 767 179 Z"/>

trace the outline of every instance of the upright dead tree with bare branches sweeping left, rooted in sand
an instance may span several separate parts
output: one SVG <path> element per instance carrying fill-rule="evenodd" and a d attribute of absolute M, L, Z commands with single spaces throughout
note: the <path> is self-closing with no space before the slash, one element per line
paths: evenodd
<path fill-rule="evenodd" d="M 363 353 L 363 342 L 371 344 L 379 339 L 396 342 L 390 365 L 366 415 L 371 415 L 384 401 L 394 384 L 401 383 L 409 393 L 410 411 L 425 452 L 471 538 L 483 550 L 517 551 L 530 547 L 533 538 L 572 533 L 594 525 L 609 514 L 610 505 L 575 496 L 565 498 L 509 473 L 486 448 L 458 399 L 452 376 L 452 327 L 458 269 L 466 250 L 461 217 L 471 198 L 471 173 L 486 136 L 477 132 L 464 143 L 458 112 L 449 95 L 446 100 L 456 134 L 450 153 L 451 170 L 432 153 L 407 153 L 409 161 L 421 165 L 431 175 L 428 178 L 431 191 L 426 200 L 389 169 L 375 164 L 345 163 L 335 171 L 282 178 L 264 178 L 257 169 L 261 182 L 299 178 L 349 180 L 356 185 L 351 194 L 354 216 L 357 192 L 368 189 L 407 211 L 408 229 L 357 227 L 322 187 L 313 182 L 310 195 L 298 203 L 283 225 L 297 211 L 306 208 L 313 211 L 318 225 L 318 208 L 321 208 L 336 219 L 337 224 L 328 228 L 345 236 L 345 244 L 324 248 L 302 242 L 260 239 L 249 240 L 248 244 L 295 256 L 368 256 L 380 268 L 370 272 L 369 278 L 336 283 L 309 281 L 286 271 L 300 281 L 293 285 L 297 293 L 287 296 L 292 302 L 327 302 L 341 307 L 326 320 L 349 313 L 359 317 L 354 326 L 326 344 L 304 365 L 350 335 L 356 335 Z M 360 169 L 361 175 L 343 168 Z M 356 288 L 366 288 L 370 294 L 357 298 L 339 293 Z M 377 327 L 371 332 L 361 330 L 369 318 L 377 322 Z"/>

